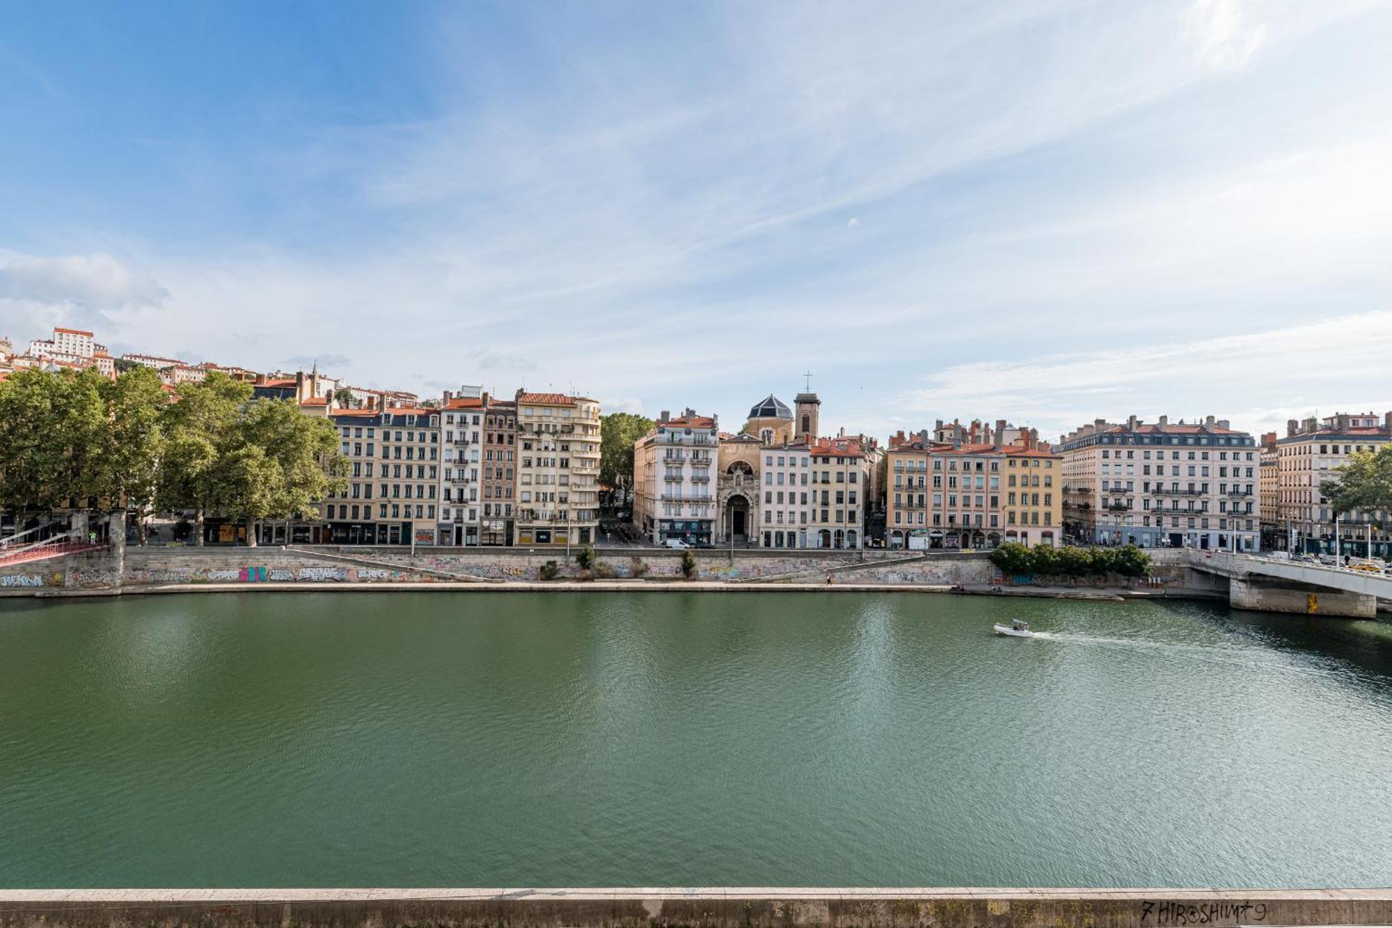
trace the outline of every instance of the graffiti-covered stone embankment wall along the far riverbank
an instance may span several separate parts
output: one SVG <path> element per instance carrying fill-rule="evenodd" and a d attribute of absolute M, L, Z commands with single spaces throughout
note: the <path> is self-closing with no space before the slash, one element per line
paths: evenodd
<path fill-rule="evenodd" d="M 599 549 L 590 570 L 574 556 L 554 549 L 458 549 L 458 548 L 127 548 L 122 557 L 89 552 L 0 569 L 0 595 L 64 595 L 95 591 L 139 592 L 155 588 L 241 587 L 302 588 L 324 585 L 476 584 L 533 587 L 553 584 L 576 588 L 606 581 L 646 581 L 690 588 L 798 587 L 809 584 L 885 588 L 1002 587 L 1025 595 L 1045 594 L 1030 577 L 1002 577 L 984 552 L 777 552 L 700 550 L 688 581 L 682 552 L 665 549 Z M 554 577 L 547 578 L 548 573 Z M 830 584 L 827 581 L 830 580 Z M 1218 578 L 1221 580 L 1221 578 Z M 1154 577 L 1144 581 L 1079 580 L 1047 595 L 1096 596 L 1101 591 L 1134 591 L 1146 595 L 1225 595 L 1215 578 L 1193 571 L 1182 552 L 1155 552 Z"/>

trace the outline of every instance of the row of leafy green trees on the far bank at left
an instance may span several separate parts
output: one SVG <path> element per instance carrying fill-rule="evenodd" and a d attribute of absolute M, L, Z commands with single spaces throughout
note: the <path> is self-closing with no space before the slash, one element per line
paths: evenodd
<path fill-rule="evenodd" d="M 21 517 L 159 506 L 199 521 L 316 516 L 345 471 L 333 424 L 294 401 L 253 400 L 251 385 L 214 372 L 170 403 L 143 366 L 116 380 L 89 369 L 0 382 L 0 507 Z"/>

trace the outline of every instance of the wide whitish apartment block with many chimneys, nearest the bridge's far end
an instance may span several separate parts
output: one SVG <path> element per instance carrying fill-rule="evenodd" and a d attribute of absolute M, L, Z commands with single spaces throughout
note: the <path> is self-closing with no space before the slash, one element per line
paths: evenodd
<path fill-rule="evenodd" d="M 1226 419 L 1096 419 L 1054 450 L 1080 543 L 1260 550 L 1256 440 Z"/>

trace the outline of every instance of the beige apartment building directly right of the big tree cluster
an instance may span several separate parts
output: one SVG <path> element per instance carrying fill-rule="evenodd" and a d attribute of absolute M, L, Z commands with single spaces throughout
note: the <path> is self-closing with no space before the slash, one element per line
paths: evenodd
<path fill-rule="evenodd" d="M 335 545 L 433 545 L 440 486 L 440 412 L 420 407 L 333 410 L 348 486 L 324 500 Z"/>

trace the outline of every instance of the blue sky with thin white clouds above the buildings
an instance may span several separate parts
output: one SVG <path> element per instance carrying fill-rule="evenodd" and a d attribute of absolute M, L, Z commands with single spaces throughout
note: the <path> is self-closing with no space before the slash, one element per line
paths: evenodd
<path fill-rule="evenodd" d="M 1392 408 L 1392 3 L 46 3 L 0 333 L 738 426 Z"/>

